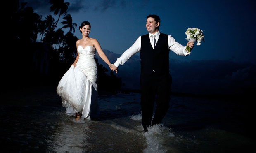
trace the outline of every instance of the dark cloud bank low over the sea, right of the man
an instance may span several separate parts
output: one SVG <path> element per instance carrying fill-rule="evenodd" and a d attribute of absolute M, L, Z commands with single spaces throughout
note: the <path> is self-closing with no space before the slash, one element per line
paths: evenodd
<path fill-rule="evenodd" d="M 256 66 L 223 60 L 171 61 L 174 90 L 199 94 L 240 94 L 255 90 Z"/>

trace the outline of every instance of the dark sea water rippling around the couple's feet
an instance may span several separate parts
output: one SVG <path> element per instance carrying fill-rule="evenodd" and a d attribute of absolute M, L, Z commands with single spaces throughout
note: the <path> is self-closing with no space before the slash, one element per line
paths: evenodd
<path fill-rule="evenodd" d="M 1 96 L 1 152 L 246 153 L 255 144 L 246 98 L 172 95 L 163 123 L 143 132 L 140 93 L 99 93 L 100 117 L 81 121 L 54 87 Z"/>

